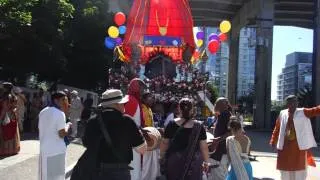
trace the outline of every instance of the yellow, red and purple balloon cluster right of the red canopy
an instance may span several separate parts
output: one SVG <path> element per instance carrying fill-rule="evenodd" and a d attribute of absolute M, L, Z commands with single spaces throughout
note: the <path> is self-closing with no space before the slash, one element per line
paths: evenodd
<path fill-rule="evenodd" d="M 220 23 L 220 34 L 211 33 L 209 35 L 209 43 L 208 43 L 208 50 L 210 53 L 215 54 L 220 48 L 220 43 L 224 42 L 228 39 L 226 33 L 231 30 L 231 23 L 227 20 L 224 20 Z"/>

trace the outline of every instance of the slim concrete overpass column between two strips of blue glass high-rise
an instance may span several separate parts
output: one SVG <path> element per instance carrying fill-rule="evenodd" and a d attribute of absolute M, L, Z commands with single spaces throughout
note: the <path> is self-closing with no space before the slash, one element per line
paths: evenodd
<path fill-rule="evenodd" d="M 237 101 L 238 58 L 239 58 L 239 34 L 240 30 L 232 29 L 229 47 L 229 73 L 227 96 L 232 105 Z"/>

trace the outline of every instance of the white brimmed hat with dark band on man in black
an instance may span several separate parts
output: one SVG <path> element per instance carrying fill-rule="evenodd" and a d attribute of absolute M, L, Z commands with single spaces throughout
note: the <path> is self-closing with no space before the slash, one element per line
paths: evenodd
<path fill-rule="evenodd" d="M 129 97 L 123 97 L 123 94 L 118 89 L 108 89 L 102 93 L 101 103 L 99 106 L 108 106 L 111 104 L 124 104 L 129 101 Z"/>

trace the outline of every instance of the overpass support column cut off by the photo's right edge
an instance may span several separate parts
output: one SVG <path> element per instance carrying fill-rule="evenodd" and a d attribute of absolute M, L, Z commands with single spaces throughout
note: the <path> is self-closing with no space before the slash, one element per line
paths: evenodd
<path fill-rule="evenodd" d="M 320 0 L 315 2 L 315 19 L 313 32 L 313 62 L 312 62 L 312 94 L 314 105 L 320 105 Z M 317 117 L 315 122 L 315 136 L 320 140 L 320 118 Z"/>

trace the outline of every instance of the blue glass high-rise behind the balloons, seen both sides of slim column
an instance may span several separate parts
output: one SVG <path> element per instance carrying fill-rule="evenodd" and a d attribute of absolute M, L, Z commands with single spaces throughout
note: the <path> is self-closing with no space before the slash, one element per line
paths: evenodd
<path fill-rule="evenodd" d="M 211 33 L 219 33 L 216 27 L 205 28 L 208 44 L 208 37 Z M 255 76 L 255 45 L 256 31 L 254 28 L 242 28 L 239 41 L 239 65 L 237 97 L 248 95 L 254 87 Z M 208 51 L 207 51 L 208 52 Z M 228 89 L 229 71 L 229 44 L 222 43 L 216 54 L 210 54 L 205 64 L 205 71 L 209 72 L 211 81 L 215 82 L 219 96 L 226 96 Z M 200 65 L 201 67 L 203 66 Z"/>

